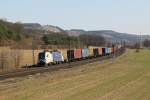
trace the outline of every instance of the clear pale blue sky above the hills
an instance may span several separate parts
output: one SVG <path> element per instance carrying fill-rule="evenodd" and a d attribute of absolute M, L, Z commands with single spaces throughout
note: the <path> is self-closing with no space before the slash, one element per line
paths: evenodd
<path fill-rule="evenodd" d="M 0 0 L 0 18 L 63 29 L 150 34 L 150 0 Z"/>

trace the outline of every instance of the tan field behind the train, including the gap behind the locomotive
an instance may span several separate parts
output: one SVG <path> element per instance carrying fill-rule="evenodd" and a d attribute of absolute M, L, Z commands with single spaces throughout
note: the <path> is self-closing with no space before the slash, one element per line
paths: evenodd
<path fill-rule="evenodd" d="M 64 54 L 64 58 L 66 59 L 66 49 L 60 49 L 63 54 Z M 37 64 L 37 60 L 38 60 L 38 54 L 43 51 L 43 50 L 34 50 L 34 59 L 35 59 L 35 64 Z M 7 67 L 7 69 L 9 68 L 15 68 L 15 62 L 14 62 L 14 58 L 15 56 L 19 56 L 19 66 L 17 67 L 22 67 L 22 66 L 26 66 L 26 65 L 33 65 L 33 52 L 32 50 L 24 50 L 24 49 L 10 49 L 9 47 L 0 47 L 0 55 L 1 53 L 3 53 L 5 55 L 5 62 L 7 65 L 5 65 L 5 67 Z M 1 57 L 0 57 L 1 60 Z"/>

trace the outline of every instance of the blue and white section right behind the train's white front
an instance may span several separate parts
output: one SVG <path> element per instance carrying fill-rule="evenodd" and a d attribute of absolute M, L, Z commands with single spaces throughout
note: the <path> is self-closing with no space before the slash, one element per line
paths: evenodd
<path fill-rule="evenodd" d="M 62 52 L 53 51 L 52 55 L 53 55 L 53 62 L 54 63 L 64 62 L 64 57 L 63 57 Z"/>

